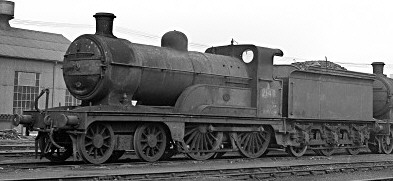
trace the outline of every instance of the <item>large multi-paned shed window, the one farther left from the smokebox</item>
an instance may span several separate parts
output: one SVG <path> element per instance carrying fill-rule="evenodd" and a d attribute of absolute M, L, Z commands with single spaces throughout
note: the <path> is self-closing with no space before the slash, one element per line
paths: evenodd
<path fill-rule="evenodd" d="M 40 74 L 33 72 L 15 72 L 13 113 L 34 108 L 34 99 L 39 94 Z"/>

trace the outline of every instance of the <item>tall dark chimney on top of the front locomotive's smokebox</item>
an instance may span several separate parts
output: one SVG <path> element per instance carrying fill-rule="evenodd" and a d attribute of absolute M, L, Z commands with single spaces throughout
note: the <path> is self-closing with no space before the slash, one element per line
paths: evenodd
<path fill-rule="evenodd" d="M 112 13 L 96 13 L 96 35 L 116 38 L 113 35 L 113 20 L 116 16 Z"/>

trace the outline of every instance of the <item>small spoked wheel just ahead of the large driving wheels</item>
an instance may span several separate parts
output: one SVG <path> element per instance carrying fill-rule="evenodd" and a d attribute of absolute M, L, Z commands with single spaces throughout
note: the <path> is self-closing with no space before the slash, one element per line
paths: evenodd
<path fill-rule="evenodd" d="M 155 162 L 163 157 L 167 142 L 166 132 L 160 124 L 143 124 L 135 131 L 135 153 L 143 161 Z"/>

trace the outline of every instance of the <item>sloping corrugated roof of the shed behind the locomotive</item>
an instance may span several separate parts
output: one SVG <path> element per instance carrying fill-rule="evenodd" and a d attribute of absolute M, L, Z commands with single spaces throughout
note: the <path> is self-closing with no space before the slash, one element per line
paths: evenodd
<path fill-rule="evenodd" d="M 63 61 L 70 44 L 60 34 L 19 28 L 0 29 L 0 56 Z"/>

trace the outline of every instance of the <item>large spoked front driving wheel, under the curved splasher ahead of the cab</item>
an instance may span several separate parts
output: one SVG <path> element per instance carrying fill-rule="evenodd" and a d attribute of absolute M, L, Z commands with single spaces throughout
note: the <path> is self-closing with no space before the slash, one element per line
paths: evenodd
<path fill-rule="evenodd" d="M 195 160 L 207 160 L 214 156 L 222 144 L 223 133 L 209 131 L 209 125 L 190 125 L 184 135 L 187 155 Z"/>

